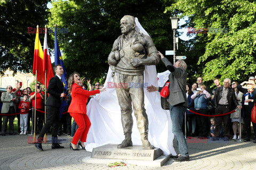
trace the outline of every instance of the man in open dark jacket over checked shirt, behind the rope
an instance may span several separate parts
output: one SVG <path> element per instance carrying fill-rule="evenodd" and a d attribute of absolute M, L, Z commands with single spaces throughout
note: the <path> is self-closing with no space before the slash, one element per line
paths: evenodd
<path fill-rule="evenodd" d="M 225 79 L 223 82 L 223 86 L 218 87 L 215 90 L 215 95 L 214 95 L 214 105 L 215 107 L 215 114 L 223 114 L 223 113 L 228 113 L 232 111 L 235 106 L 238 108 L 242 108 L 241 106 L 238 105 L 236 96 L 235 96 L 235 90 L 230 88 L 231 80 L 230 79 Z M 223 121 L 224 124 L 224 140 L 228 141 L 228 136 L 229 136 L 229 124 L 230 124 L 230 114 L 225 115 L 225 116 L 216 116 L 216 128 L 214 131 L 214 140 L 218 139 L 220 135 L 220 128 L 221 124 Z"/>

